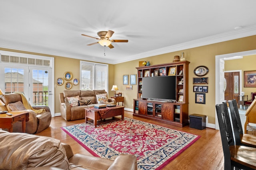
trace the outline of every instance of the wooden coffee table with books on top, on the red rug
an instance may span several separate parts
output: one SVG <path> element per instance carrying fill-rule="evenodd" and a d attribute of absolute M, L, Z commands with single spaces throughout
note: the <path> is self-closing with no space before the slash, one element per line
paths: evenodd
<path fill-rule="evenodd" d="M 124 106 L 117 106 L 117 107 L 106 107 L 104 109 L 96 109 L 94 107 L 86 108 L 85 109 L 85 123 L 92 123 L 95 127 L 101 123 L 107 123 L 110 121 L 118 120 L 115 116 L 122 115 L 122 120 L 124 120 Z M 112 119 L 107 119 L 112 117 Z M 88 121 L 88 119 L 92 119 Z M 100 121 L 98 121 L 100 120 Z"/>

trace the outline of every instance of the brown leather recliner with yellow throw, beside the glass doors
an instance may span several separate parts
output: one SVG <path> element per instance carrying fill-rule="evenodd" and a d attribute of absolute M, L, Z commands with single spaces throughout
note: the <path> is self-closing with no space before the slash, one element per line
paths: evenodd
<path fill-rule="evenodd" d="M 7 105 L 11 103 L 15 103 L 18 101 L 22 102 L 22 97 L 20 94 L 4 94 L 0 96 L 0 100 L 4 102 L 5 106 L 0 107 L 0 111 L 5 111 L 7 109 Z M 29 112 L 29 121 L 26 122 L 26 133 L 34 134 L 40 133 L 44 129 L 50 126 L 52 115 L 50 112 L 50 108 L 48 106 L 32 106 L 34 109 L 45 109 L 44 113 L 36 114 L 33 110 L 27 110 Z M 10 110 L 9 110 L 10 111 Z M 14 132 L 22 132 L 21 122 L 18 121 L 13 124 L 13 131 Z"/>

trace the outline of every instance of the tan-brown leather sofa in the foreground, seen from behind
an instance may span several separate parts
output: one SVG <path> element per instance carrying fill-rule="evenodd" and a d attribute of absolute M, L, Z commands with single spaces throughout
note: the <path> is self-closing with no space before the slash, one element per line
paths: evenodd
<path fill-rule="evenodd" d="M 0 169 L 4 170 L 137 170 L 136 156 L 115 160 L 74 154 L 71 147 L 51 137 L 0 130 Z"/>

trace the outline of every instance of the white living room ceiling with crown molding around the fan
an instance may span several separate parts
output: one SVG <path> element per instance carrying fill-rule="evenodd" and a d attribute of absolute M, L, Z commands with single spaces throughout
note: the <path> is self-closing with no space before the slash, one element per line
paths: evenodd
<path fill-rule="evenodd" d="M 256 0 L 0 0 L 0 47 L 116 64 L 256 35 L 255 7 Z M 81 35 L 108 30 L 129 42 L 88 46 L 97 40 Z"/>

